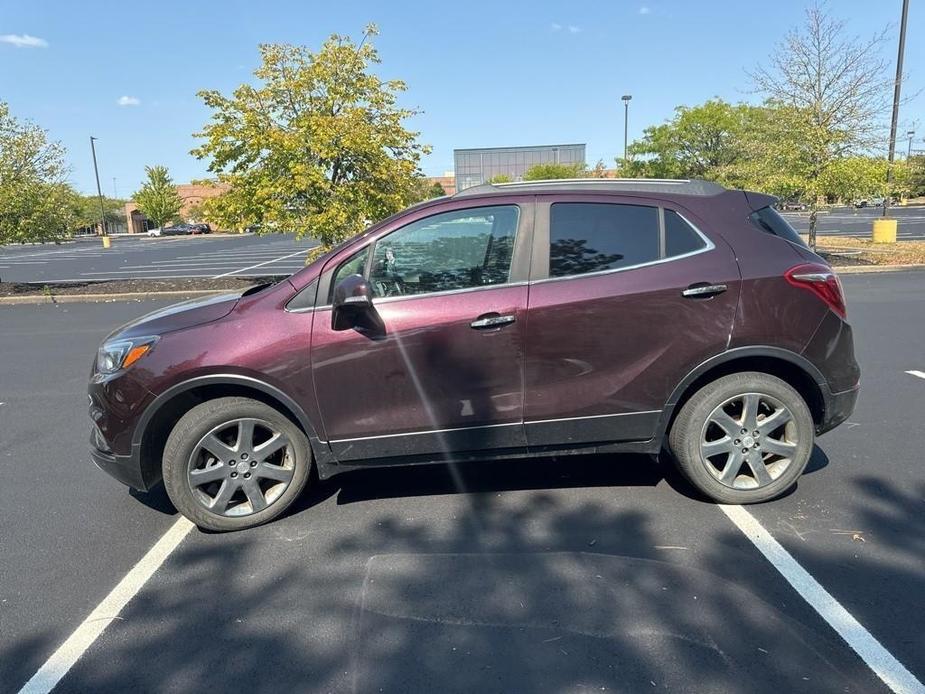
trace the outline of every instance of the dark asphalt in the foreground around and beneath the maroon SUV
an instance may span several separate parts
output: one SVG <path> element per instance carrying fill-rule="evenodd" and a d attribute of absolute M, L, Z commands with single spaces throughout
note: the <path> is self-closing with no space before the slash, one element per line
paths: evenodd
<path fill-rule="evenodd" d="M 748 513 L 922 691 L 925 272 L 843 282 L 857 411 Z M 99 340 L 163 303 L 0 307 L 0 691 L 165 535 L 56 691 L 888 691 L 738 507 L 647 458 L 350 473 L 270 525 L 187 534 L 162 491 L 131 495 L 86 454 Z"/>

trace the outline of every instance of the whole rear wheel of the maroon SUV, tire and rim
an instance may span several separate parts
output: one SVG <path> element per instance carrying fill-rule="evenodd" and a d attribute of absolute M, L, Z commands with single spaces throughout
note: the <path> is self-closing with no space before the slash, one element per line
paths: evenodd
<path fill-rule="evenodd" d="M 769 374 L 717 379 L 688 400 L 668 437 L 681 473 L 727 504 L 773 499 L 795 483 L 813 450 L 813 418 L 800 394 Z"/>

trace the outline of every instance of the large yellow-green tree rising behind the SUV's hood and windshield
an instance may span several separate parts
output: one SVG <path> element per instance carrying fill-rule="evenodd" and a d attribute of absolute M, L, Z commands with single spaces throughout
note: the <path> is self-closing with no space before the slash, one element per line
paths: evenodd
<path fill-rule="evenodd" d="M 331 246 L 417 199 L 430 150 L 405 127 L 417 113 L 397 105 L 405 84 L 374 72 L 377 33 L 370 24 L 358 43 L 333 34 L 317 52 L 262 45 L 258 84 L 199 93 L 212 118 L 193 154 L 231 186 L 207 202 L 213 219 Z"/>

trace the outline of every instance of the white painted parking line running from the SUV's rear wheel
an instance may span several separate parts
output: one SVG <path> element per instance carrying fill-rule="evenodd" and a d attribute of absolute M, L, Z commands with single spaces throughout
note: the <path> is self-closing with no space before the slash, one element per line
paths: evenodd
<path fill-rule="evenodd" d="M 916 679 L 892 653 L 842 607 L 809 572 L 785 550 L 752 514 L 741 506 L 719 505 L 720 509 L 742 531 L 800 596 L 809 603 L 845 643 L 860 656 L 884 684 L 903 694 L 925 693 L 925 686 Z"/>

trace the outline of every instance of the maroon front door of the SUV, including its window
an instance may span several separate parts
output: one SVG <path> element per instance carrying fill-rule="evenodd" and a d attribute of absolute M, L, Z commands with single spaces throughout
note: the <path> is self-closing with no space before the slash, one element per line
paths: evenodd
<path fill-rule="evenodd" d="M 328 285 L 364 274 L 378 328 L 315 311 L 312 369 L 342 461 L 518 449 L 523 433 L 532 203 L 428 214 L 332 259 Z M 322 282 L 322 285 L 324 282 Z M 330 296 L 330 294 L 329 294 Z"/>

